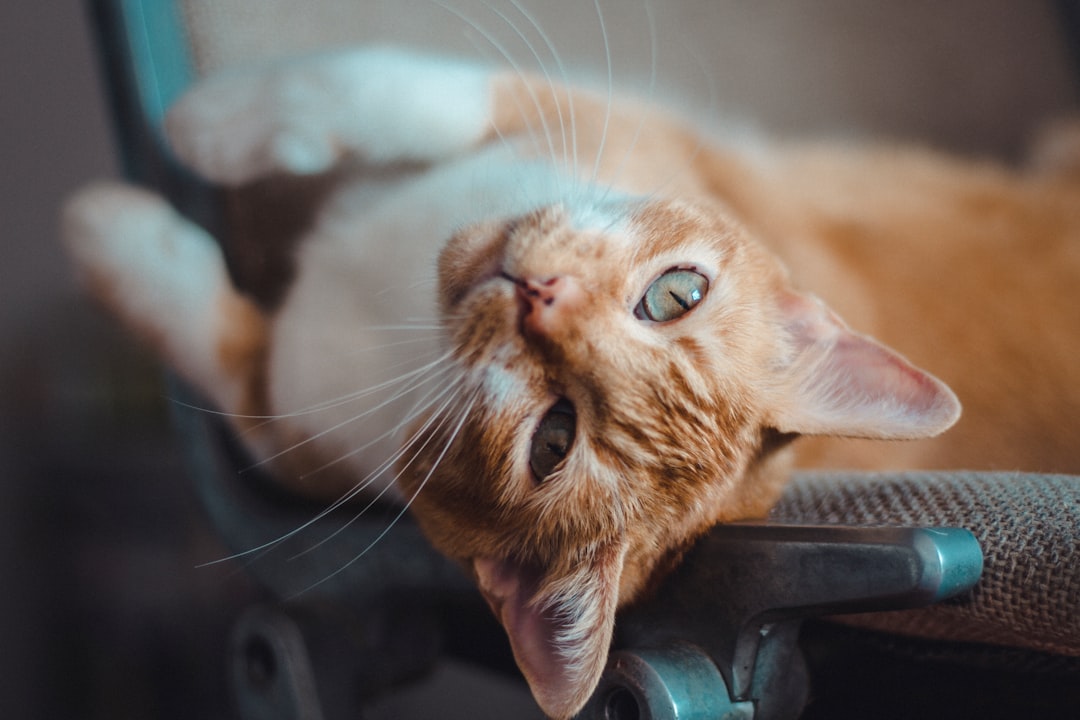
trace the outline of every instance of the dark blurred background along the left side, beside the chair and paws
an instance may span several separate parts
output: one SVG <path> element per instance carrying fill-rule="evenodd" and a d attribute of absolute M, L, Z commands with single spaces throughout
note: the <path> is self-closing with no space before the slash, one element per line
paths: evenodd
<path fill-rule="evenodd" d="M 81 2 L 0 5 L 0 717 L 226 717 L 232 569 L 158 370 L 79 296 L 62 199 L 113 175 Z"/>

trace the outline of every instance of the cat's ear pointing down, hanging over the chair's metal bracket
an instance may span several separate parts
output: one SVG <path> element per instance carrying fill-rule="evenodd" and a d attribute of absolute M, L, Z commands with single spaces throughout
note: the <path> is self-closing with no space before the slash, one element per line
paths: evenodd
<path fill-rule="evenodd" d="M 502 623 L 532 696 L 555 720 L 581 709 L 607 663 L 625 551 L 584 554 L 567 576 L 536 566 L 477 558 L 477 585 Z"/>

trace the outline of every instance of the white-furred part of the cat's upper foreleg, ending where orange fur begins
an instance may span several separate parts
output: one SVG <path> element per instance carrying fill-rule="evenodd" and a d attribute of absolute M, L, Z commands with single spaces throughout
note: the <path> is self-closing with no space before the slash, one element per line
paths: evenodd
<path fill-rule="evenodd" d="M 487 134 L 490 74 L 387 49 L 318 55 L 199 83 L 171 109 L 166 132 L 181 160 L 228 185 L 324 172 L 347 154 L 433 162 Z"/>

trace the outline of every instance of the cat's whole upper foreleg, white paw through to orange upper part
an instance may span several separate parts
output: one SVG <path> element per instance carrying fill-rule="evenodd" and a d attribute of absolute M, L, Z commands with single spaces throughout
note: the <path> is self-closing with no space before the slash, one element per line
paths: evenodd
<path fill-rule="evenodd" d="M 165 126 L 184 162 L 239 185 L 322 173 L 348 155 L 376 165 L 435 163 L 496 141 L 602 175 L 608 138 L 634 137 L 646 117 L 656 132 L 665 121 L 653 114 L 548 77 L 359 49 L 208 78 L 170 110 Z M 647 163 L 685 164 L 667 154 Z M 608 155 L 612 166 L 627 162 L 624 150 Z"/>

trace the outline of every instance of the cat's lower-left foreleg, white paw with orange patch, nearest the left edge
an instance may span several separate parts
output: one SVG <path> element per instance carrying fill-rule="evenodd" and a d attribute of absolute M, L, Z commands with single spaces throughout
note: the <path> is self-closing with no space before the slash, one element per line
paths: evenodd
<path fill-rule="evenodd" d="M 62 221 L 98 301 L 222 411 L 261 411 L 266 318 L 233 288 L 213 237 L 158 195 L 114 182 L 81 190 Z"/>

